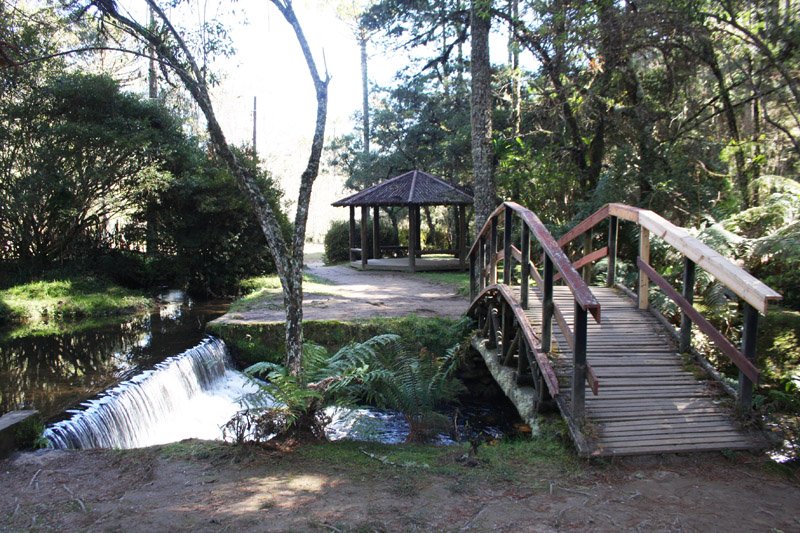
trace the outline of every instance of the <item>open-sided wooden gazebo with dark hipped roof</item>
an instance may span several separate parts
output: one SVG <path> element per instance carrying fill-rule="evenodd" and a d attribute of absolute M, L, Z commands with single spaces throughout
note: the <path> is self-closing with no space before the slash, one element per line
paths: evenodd
<path fill-rule="evenodd" d="M 466 208 L 473 198 L 461 187 L 441 178 L 412 170 L 388 179 L 368 189 L 342 198 L 332 205 L 350 208 L 350 264 L 361 270 L 464 270 L 466 269 Z M 424 206 L 456 207 L 456 249 L 448 251 L 451 257 L 423 258 L 420 243 L 420 208 Z M 361 239 L 356 244 L 356 207 L 361 208 Z M 380 208 L 408 208 L 408 258 L 382 257 L 380 244 Z M 367 219 L 372 208 L 372 259 L 367 250 Z M 437 251 L 441 252 L 441 251 Z M 359 261 L 356 261 L 359 255 Z M 440 254 L 441 255 L 441 254 Z"/>

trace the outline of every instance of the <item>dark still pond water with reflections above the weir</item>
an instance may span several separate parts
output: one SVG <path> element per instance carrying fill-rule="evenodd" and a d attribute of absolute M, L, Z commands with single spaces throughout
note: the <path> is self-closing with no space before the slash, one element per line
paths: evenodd
<path fill-rule="evenodd" d="M 196 345 L 225 304 L 195 304 L 180 291 L 158 296 L 150 313 L 89 329 L 6 332 L 0 341 L 0 414 L 38 409 L 58 415 L 142 368 Z"/>

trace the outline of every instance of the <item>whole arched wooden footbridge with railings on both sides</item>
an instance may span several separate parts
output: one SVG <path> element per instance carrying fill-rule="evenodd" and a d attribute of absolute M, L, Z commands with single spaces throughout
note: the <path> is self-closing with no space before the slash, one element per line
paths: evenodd
<path fill-rule="evenodd" d="M 616 284 L 620 222 L 634 224 L 639 235 L 636 293 Z M 684 257 L 681 292 L 650 265 L 651 237 Z M 598 240 L 605 246 L 594 250 Z M 573 262 L 567 251 L 581 257 Z M 591 287 L 593 264 L 606 257 L 605 286 Z M 478 321 L 472 344 L 530 423 L 551 398 L 581 455 L 764 447 L 740 420 L 750 413 L 760 375 L 759 312 L 780 295 L 684 229 L 652 211 L 608 204 L 556 240 L 534 213 L 506 202 L 469 260 L 469 314 Z M 692 305 L 697 267 L 741 299 L 741 348 Z M 651 309 L 651 282 L 680 308 L 679 329 Z M 738 367 L 736 401 L 696 375 L 687 355 L 693 325 Z"/>

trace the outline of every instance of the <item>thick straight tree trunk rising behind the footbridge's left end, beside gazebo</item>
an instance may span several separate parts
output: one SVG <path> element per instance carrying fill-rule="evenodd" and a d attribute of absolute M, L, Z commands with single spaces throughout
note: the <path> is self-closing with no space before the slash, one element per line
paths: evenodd
<path fill-rule="evenodd" d="M 481 230 L 496 205 L 497 192 L 492 175 L 492 72 L 489 62 L 491 0 L 472 0 L 472 129 L 473 190 L 475 193 L 475 231 Z"/>

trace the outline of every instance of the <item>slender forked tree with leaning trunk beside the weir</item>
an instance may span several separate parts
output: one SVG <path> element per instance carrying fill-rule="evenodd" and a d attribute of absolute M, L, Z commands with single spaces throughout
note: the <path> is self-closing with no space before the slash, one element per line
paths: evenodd
<path fill-rule="evenodd" d="M 303 29 L 292 7 L 291 0 L 272 0 L 286 22 L 292 27 L 303 52 L 308 72 L 316 92 L 316 119 L 311 151 L 306 168 L 300 178 L 297 196 L 297 212 L 294 218 L 294 232 L 287 242 L 281 232 L 279 218 L 270 202 L 259 187 L 252 171 L 231 149 L 222 127 L 217 120 L 209 93 L 209 77 L 205 64 L 198 63 L 195 53 L 187 45 L 184 35 L 173 24 L 165 10 L 156 0 L 146 0 L 156 15 L 157 28 L 151 31 L 149 25 L 142 24 L 117 8 L 113 0 L 97 0 L 93 3 L 101 12 L 130 35 L 152 45 L 159 60 L 181 81 L 192 96 L 206 119 L 209 142 L 217 155 L 225 162 L 236 178 L 237 184 L 249 198 L 253 211 L 267 239 L 267 245 L 275 260 L 275 267 L 281 281 L 283 301 L 286 308 L 286 367 L 294 375 L 299 375 L 303 354 L 303 248 L 305 244 L 308 208 L 311 190 L 319 173 L 320 158 L 325 138 L 325 122 L 328 111 L 327 73 L 320 73 L 306 40 Z M 88 9 L 86 7 L 85 9 Z M 203 57 L 208 53 L 201 50 Z"/>

